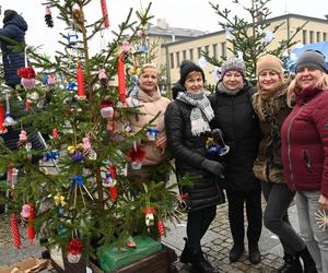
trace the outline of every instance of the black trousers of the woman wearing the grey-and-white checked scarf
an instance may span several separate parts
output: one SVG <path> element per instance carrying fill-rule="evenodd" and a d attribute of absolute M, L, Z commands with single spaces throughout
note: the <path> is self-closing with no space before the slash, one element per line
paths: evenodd
<path fill-rule="evenodd" d="M 187 237 L 188 245 L 194 253 L 201 251 L 200 240 L 207 233 L 212 221 L 215 218 L 215 215 L 216 205 L 207 206 L 188 213 Z"/>

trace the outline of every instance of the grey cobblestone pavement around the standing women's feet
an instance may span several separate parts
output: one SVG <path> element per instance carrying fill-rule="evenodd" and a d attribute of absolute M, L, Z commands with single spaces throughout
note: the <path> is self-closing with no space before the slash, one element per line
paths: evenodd
<path fill-rule="evenodd" d="M 292 204 L 289 209 L 289 214 L 292 225 L 296 228 L 296 230 L 298 230 L 297 215 L 294 204 Z M 247 223 L 245 225 L 247 225 Z M 184 248 L 183 237 L 186 236 L 186 222 L 181 222 L 176 226 L 171 225 L 171 228 L 172 230 L 164 239 L 164 242 L 175 248 L 176 253 L 179 256 Z M 262 229 L 261 238 L 259 241 L 259 248 L 262 258 L 261 262 L 254 265 L 248 261 L 247 241 L 245 241 L 245 253 L 243 254 L 241 260 L 235 263 L 230 262 L 227 256 L 232 247 L 232 237 L 227 219 L 227 204 L 218 206 L 216 217 L 210 226 L 208 233 L 206 234 L 202 240 L 202 250 L 207 253 L 209 261 L 220 273 L 277 272 L 277 269 L 279 269 L 283 263 L 283 252 L 278 237 L 271 234 L 265 227 Z M 180 263 L 179 261 L 176 262 L 176 268 L 180 273 L 192 272 L 191 266 Z"/>

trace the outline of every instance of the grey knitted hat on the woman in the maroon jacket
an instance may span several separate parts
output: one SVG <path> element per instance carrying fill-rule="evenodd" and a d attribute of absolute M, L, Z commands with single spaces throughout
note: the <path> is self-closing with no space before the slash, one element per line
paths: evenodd
<path fill-rule="evenodd" d="M 314 68 L 328 73 L 325 64 L 325 56 L 318 50 L 308 49 L 300 55 L 296 62 L 296 72 L 303 68 Z"/>

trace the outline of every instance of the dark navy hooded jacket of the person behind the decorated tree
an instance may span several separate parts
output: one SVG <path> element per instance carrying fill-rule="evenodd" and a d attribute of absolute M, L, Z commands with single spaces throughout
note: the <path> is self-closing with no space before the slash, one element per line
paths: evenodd
<path fill-rule="evenodd" d="M 27 31 L 27 24 L 25 20 L 15 14 L 10 21 L 3 24 L 3 28 L 0 28 L 0 35 L 7 36 L 17 43 L 25 43 L 25 32 Z M 0 37 L 2 62 L 4 70 L 4 81 L 9 86 L 14 87 L 21 83 L 21 79 L 17 75 L 17 69 L 25 66 L 24 51 L 17 51 L 12 48 L 11 43 Z"/>

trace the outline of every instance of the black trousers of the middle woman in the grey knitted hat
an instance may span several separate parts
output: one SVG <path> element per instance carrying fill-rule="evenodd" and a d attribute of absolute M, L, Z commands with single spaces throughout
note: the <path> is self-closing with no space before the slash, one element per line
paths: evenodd
<path fill-rule="evenodd" d="M 260 189 L 249 192 L 226 189 L 229 222 L 233 241 L 244 245 L 244 204 L 246 203 L 248 248 L 257 246 L 262 230 L 262 209 Z"/>

